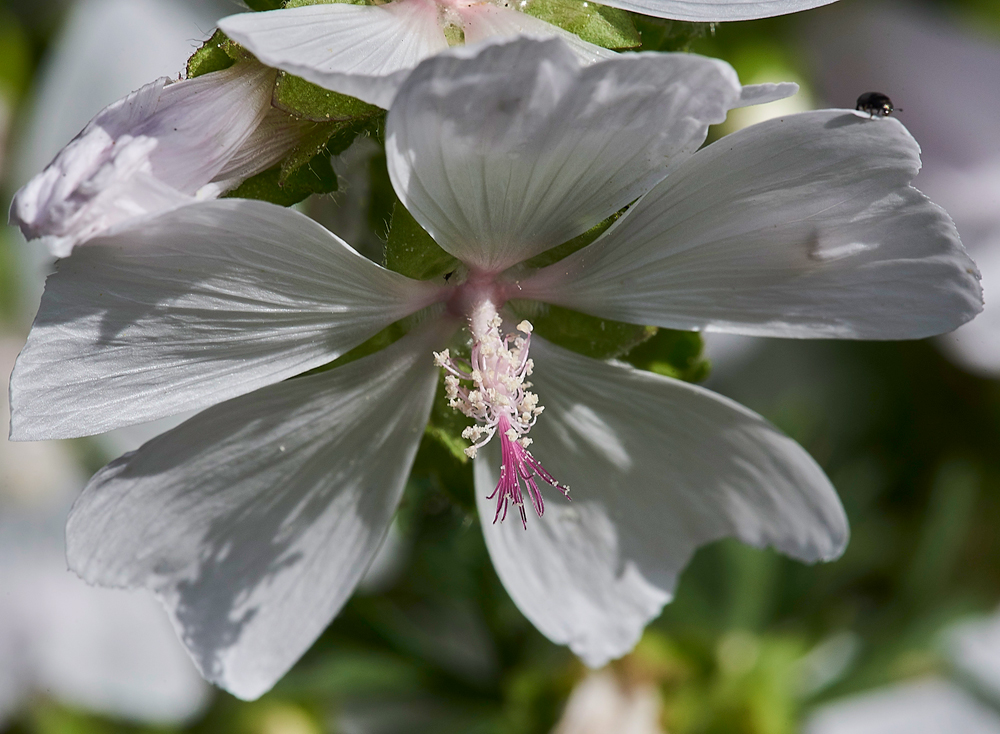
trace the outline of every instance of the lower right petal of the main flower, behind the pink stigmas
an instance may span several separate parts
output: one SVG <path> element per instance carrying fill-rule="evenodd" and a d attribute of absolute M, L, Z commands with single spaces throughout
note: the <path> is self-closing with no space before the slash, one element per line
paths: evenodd
<path fill-rule="evenodd" d="M 760 416 L 537 337 L 531 353 L 545 406 L 532 450 L 572 502 L 550 497 L 527 530 L 491 525 L 494 447 L 476 461 L 479 514 L 515 603 L 588 665 L 635 645 L 699 545 L 735 536 L 810 562 L 843 551 L 847 519 L 829 480 Z"/>

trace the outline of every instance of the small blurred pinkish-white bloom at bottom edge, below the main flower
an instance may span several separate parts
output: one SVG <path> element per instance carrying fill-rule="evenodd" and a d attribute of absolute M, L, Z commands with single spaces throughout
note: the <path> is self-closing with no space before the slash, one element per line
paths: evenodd
<path fill-rule="evenodd" d="M 629 686 L 602 670 L 576 685 L 552 734 L 664 734 L 662 716 L 655 685 Z"/>

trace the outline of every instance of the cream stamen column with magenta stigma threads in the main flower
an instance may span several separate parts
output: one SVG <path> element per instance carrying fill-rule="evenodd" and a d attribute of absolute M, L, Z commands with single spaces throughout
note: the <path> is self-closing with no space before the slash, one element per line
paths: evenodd
<path fill-rule="evenodd" d="M 503 522 L 511 503 L 521 514 L 521 524 L 528 527 L 524 511 L 525 492 L 539 517 L 545 512 L 545 502 L 538 488 L 538 479 L 558 489 L 567 499 L 569 487 L 560 484 L 545 470 L 528 447 L 528 431 L 535 425 L 544 408 L 538 396 L 530 392 L 534 363 L 528 357 L 531 324 L 522 321 L 515 334 L 500 335 L 502 320 L 490 301 L 477 307 L 469 319 L 472 333 L 472 354 L 469 362 L 455 359 L 445 349 L 434 353 L 434 363 L 445 371 L 445 395 L 448 405 L 476 421 L 462 432 L 471 441 L 465 453 L 475 458 L 497 433 L 500 434 L 502 462 L 500 481 L 488 499 L 496 498 L 497 510 L 493 522 Z"/>

